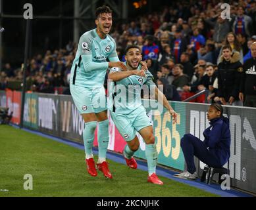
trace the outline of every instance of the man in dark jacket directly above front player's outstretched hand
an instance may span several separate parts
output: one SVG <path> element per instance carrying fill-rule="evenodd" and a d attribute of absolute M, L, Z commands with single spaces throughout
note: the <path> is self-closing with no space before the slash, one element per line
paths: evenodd
<path fill-rule="evenodd" d="M 177 91 L 182 91 L 182 87 L 188 85 L 190 79 L 188 75 L 183 74 L 184 66 L 182 64 L 176 64 L 172 69 L 172 75 L 174 76 L 174 80 L 171 85 L 174 85 Z"/>

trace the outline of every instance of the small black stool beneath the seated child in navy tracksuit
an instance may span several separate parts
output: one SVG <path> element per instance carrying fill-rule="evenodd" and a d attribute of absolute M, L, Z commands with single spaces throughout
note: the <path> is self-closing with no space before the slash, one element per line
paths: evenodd
<path fill-rule="evenodd" d="M 224 167 L 222 168 L 215 168 L 215 167 L 209 167 L 209 166 L 205 166 L 205 168 L 203 169 L 203 175 L 201 177 L 201 182 L 206 182 L 207 184 L 211 184 L 213 181 L 213 176 L 215 174 L 218 174 L 218 183 L 221 184 L 221 179 L 220 177 L 222 175 L 229 175 L 229 169 L 226 169 Z"/>

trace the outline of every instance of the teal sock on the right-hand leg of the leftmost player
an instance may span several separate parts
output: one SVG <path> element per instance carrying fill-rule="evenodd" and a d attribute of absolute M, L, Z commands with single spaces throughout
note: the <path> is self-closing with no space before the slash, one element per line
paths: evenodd
<path fill-rule="evenodd" d="M 99 158 L 106 158 L 109 146 L 109 119 L 99 122 L 98 125 Z"/>

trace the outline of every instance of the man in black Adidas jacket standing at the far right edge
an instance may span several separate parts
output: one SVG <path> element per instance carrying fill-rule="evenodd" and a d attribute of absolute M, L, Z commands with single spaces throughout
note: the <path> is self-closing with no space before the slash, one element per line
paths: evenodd
<path fill-rule="evenodd" d="M 243 79 L 240 100 L 244 106 L 256 107 L 256 41 L 251 44 L 251 55 L 243 65 Z"/>

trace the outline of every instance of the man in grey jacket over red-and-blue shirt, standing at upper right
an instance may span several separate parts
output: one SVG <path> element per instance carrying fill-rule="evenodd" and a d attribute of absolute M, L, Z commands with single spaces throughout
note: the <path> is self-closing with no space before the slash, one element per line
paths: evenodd
<path fill-rule="evenodd" d="M 232 24 L 232 31 L 234 31 L 236 35 L 239 33 L 246 33 L 246 35 L 249 37 L 252 35 L 251 31 L 253 22 L 250 16 L 244 14 L 244 9 L 242 6 L 238 7 L 237 16 L 234 17 L 232 22 L 234 22 Z"/>

